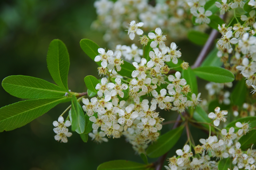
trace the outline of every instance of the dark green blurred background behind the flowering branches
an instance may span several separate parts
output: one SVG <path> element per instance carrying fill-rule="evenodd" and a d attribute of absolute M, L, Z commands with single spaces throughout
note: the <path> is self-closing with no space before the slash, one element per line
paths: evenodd
<path fill-rule="evenodd" d="M 88 38 L 100 47 L 106 47 L 103 33 L 91 29 L 92 21 L 97 18 L 93 3 L 94 0 L 1 0 L 0 79 L 9 75 L 27 75 L 54 83 L 47 70 L 46 54 L 51 40 L 58 38 L 66 44 L 70 54 L 69 88 L 73 92 L 86 92 L 84 77 L 99 78 L 99 75 L 97 65 L 82 51 L 79 41 Z M 201 47 L 187 40 L 179 41 L 177 45 L 181 48 L 182 59 L 192 65 Z M 205 82 L 198 84 L 199 92 L 204 92 Z M 21 100 L 0 87 L 0 107 Z M 0 169 L 80 170 L 96 169 L 99 164 L 116 159 L 143 162 L 124 137 L 102 144 L 89 138 L 84 143 L 74 132 L 68 143 L 55 141 L 52 122 L 69 105 L 59 104 L 24 127 L 0 133 Z M 161 116 L 174 120 L 177 113 L 162 112 Z M 164 125 L 162 133 L 171 128 L 172 124 Z M 191 131 L 196 144 L 198 139 L 207 138 L 200 130 L 192 128 Z M 186 134 L 183 134 L 175 148 L 182 148 L 186 140 Z M 172 149 L 168 157 L 174 154 Z M 155 160 L 149 159 L 149 162 Z M 167 161 L 164 164 L 167 165 Z"/>

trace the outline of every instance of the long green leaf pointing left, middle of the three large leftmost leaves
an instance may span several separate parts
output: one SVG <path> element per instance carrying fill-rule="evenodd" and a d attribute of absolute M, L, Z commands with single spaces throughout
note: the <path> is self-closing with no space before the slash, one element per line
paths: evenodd
<path fill-rule="evenodd" d="M 40 78 L 30 76 L 8 76 L 2 86 L 10 95 L 25 99 L 62 97 L 66 91 Z"/>

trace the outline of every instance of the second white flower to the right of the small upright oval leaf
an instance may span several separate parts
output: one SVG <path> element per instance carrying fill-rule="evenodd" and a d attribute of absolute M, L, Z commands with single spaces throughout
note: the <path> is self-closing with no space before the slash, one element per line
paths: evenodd
<path fill-rule="evenodd" d="M 127 84 L 122 83 L 120 77 L 115 78 L 115 84 L 114 83 L 108 83 L 108 88 L 113 89 L 111 90 L 110 94 L 111 96 L 116 96 L 119 94 L 121 98 L 124 97 L 124 92 L 122 90 L 126 90 L 128 88 Z"/>

